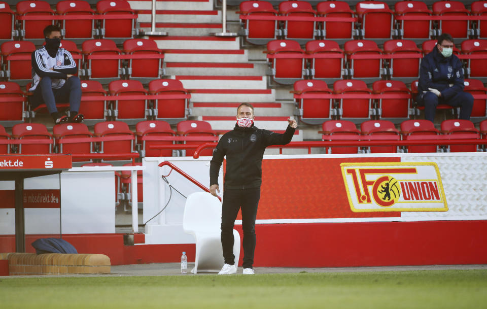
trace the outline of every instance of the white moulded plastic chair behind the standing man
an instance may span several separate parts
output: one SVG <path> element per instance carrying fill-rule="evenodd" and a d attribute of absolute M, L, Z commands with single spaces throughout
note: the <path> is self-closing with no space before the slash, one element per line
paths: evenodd
<path fill-rule="evenodd" d="M 192 234 L 196 242 L 196 257 L 192 273 L 197 271 L 218 272 L 224 264 L 220 238 L 222 203 L 207 192 L 195 192 L 188 196 L 183 214 L 183 229 Z M 240 235 L 233 230 L 233 254 L 235 265 L 240 256 Z"/>

